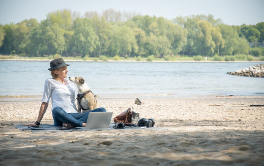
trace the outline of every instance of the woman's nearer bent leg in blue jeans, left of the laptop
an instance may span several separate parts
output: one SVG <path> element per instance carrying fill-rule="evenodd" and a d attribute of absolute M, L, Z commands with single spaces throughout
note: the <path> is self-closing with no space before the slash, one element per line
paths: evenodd
<path fill-rule="evenodd" d="M 52 117 L 54 119 L 55 126 L 63 126 L 63 122 L 65 122 L 76 127 L 82 127 L 82 121 L 65 112 L 62 107 L 53 108 Z"/>

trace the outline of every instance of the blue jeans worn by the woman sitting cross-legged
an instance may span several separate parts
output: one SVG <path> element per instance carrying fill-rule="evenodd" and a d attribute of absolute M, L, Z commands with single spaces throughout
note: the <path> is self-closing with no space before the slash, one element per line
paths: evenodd
<path fill-rule="evenodd" d="M 63 123 L 65 122 L 76 127 L 81 127 L 82 123 L 87 122 L 90 112 L 106 112 L 106 110 L 101 107 L 85 113 L 67 113 L 62 107 L 55 107 L 52 110 L 52 117 L 55 126 L 63 126 Z"/>

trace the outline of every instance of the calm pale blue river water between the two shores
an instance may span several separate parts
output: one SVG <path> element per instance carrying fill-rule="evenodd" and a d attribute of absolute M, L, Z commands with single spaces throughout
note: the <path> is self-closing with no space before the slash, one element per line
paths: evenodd
<path fill-rule="evenodd" d="M 226 74 L 259 62 L 67 63 L 68 76 L 82 76 L 101 97 L 264 95 L 264 78 Z M 0 96 L 42 95 L 47 68 L 49 62 L 0 61 Z"/>

